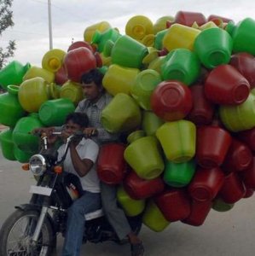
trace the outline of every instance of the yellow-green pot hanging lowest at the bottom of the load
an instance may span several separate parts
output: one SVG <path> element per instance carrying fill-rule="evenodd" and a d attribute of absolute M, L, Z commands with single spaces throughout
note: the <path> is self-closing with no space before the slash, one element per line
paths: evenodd
<path fill-rule="evenodd" d="M 145 211 L 142 214 L 142 223 L 154 232 L 161 232 L 170 224 L 152 200 L 148 201 Z"/>

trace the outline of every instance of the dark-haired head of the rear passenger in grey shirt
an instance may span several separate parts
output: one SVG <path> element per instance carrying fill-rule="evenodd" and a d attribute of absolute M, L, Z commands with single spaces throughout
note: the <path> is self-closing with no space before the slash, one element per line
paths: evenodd
<path fill-rule="evenodd" d="M 103 75 L 97 68 L 91 69 L 81 77 L 84 96 L 91 102 L 96 102 L 104 92 L 101 84 L 102 78 Z"/>

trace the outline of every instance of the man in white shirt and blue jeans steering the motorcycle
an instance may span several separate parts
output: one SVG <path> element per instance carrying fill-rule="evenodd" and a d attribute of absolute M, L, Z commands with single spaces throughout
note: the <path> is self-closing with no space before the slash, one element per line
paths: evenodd
<path fill-rule="evenodd" d="M 67 140 L 73 134 L 82 132 L 89 124 L 85 113 L 70 113 L 67 116 L 62 138 Z M 96 173 L 98 145 L 89 138 L 73 137 L 67 157 L 63 162 L 65 172 L 79 177 L 83 195 L 68 209 L 67 231 L 62 255 L 80 255 L 84 235 L 84 214 L 101 207 L 100 183 Z M 58 149 L 58 158 L 64 154 L 65 143 Z"/>

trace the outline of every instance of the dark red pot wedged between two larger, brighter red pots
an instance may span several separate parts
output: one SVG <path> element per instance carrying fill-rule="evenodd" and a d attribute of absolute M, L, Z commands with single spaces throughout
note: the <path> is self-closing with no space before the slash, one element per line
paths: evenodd
<path fill-rule="evenodd" d="M 187 119 L 195 125 L 209 125 L 212 123 L 214 104 L 205 95 L 202 84 L 194 84 L 189 87 L 193 101 L 193 108 L 188 113 Z"/>

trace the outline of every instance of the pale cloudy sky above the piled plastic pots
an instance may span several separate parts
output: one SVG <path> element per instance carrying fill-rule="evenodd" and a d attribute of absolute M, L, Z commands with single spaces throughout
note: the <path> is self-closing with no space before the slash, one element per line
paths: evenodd
<path fill-rule="evenodd" d="M 147 16 L 154 23 L 178 11 L 220 15 L 235 21 L 255 19 L 254 0 L 50 0 L 53 49 L 67 51 L 72 41 L 84 40 L 86 27 L 107 21 L 125 34 L 125 25 L 135 15 Z M 3 32 L 0 45 L 15 40 L 14 57 L 9 61 L 30 62 L 41 67 L 49 50 L 48 0 L 14 0 L 14 27 Z"/>

